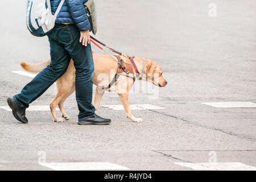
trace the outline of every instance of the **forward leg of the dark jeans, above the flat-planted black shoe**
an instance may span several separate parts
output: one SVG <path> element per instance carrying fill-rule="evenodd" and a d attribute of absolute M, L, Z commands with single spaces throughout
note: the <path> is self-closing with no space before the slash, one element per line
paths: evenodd
<path fill-rule="evenodd" d="M 82 46 L 80 32 L 74 25 L 68 26 L 73 41 L 65 46 L 76 68 L 76 101 L 79 107 L 79 121 L 95 115 L 92 105 L 94 64 L 90 44 Z"/>

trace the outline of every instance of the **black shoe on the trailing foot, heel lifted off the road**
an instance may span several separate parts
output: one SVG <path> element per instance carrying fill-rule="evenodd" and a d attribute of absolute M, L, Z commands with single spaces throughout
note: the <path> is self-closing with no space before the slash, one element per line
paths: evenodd
<path fill-rule="evenodd" d="M 28 122 L 26 118 L 26 108 L 19 107 L 15 97 L 7 98 L 7 103 L 13 110 L 13 115 L 18 121 L 23 123 Z"/>

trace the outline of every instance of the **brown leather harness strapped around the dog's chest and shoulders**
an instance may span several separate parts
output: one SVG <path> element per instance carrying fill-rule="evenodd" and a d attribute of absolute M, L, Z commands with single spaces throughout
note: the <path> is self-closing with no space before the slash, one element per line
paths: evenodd
<path fill-rule="evenodd" d="M 138 68 L 137 68 L 134 60 L 133 60 L 134 56 L 133 57 L 128 57 L 131 61 L 131 64 L 125 63 L 125 61 L 123 61 L 119 55 L 114 55 L 114 56 L 117 57 L 117 60 L 118 60 L 117 73 L 115 73 L 115 76 L 114 76 L 113 80 L 110 82 L 109 86 L 106 86 L 104 89 L 106 89 L 106 90 L 110 89 L 114 85 L 114 83 L 117 81 L 117 79 L 119 78 L 120 75 L 133 78 L 133 81 L 135 81 L 135 78 L 137 78 L 138 80 L 142 80 L 143 75 L 144 75 L 144 61 L 143 61 L 143 59 L 142 59 L 143 69 L 142 69 L 141 76 L 139 76 L 140 73 L 138 71 Z M 136 76 L 133 75 L 133 68 L 135 70 Z"/>

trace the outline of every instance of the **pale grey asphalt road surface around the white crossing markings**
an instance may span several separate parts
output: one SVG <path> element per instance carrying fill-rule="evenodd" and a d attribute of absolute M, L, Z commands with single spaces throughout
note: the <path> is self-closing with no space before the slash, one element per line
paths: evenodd
<path fill-rule="evenodd" d="M 216 16 L 209 15 L 210 3 L 216 5 Z M 165 109 L 133 110 L 144 119 L 134 123 L 125 111 L 101 106 L 97 114 L 111 118 L 109 126 L 77 125 L 74 94 L 65 102 L 71 120 L 64 123 L 53 122 L 50 111 L 27 111 L 25 125 L 0 109 L 0 170 L 51 170 L 38 163 L 41 154 L 46 163 L 109 162 L 131 170 L 192 169 L 176 162 L 256 167 L 255 107 L 201 104 L 256 103 L 256 1 L 96 4 L 96 37 L 119 51 L 158 61 L 168 81 L 159 90 L 151 87 L 158 93 L 153 100 L 152 93 L 130 93 L 130 104 Z M 7 97 L 31 80 L 12 71 L 22 71 L 22 61 L 49 59 L 49 45 L 47 38 L 28 32 L 26 1 L 5 1 L 0 17 L 0 106 L 6 106 Z M 137 81 L 135 90 L 140 84 Z M 31 106 L 48 106 L 55 93 L 53 85 Z M 101 105 L 121 101 L 117 94 L 106 93 Z"/>

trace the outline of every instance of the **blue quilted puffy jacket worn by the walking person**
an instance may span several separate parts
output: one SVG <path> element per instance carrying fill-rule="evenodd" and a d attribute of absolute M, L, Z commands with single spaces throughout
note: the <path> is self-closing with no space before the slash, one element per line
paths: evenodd
<path fill-rule="evenodd" d="M 51 0 L 52 14 L 55 14 L 61 0 Z M 56 23 L 76 24 L 80 31 L 90 29 L 90 23 L 85 13 L 84 3 L 88 0 L 65 0 L 57 15 Z"/>

